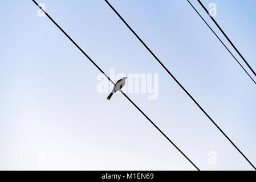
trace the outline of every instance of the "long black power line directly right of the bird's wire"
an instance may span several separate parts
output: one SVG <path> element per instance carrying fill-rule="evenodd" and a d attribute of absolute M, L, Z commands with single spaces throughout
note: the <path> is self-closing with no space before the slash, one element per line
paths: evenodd
<path fill-rule="evenodd" d="M 172 73 L 170 73 L 170 71 L 165 67 L 165 65 L 162 64 L 162 62 L 151 51 L 151 49 L 149 49 L 148 46 L 143 42 L 143 40 L 140 39 L 140 37 L 136 34 L 136 32 L 132 30 L 132 28 L 128 25 L 127 22 L 125 22 L 125 20 L 122 18 L 122 16 L 119 13 L 117 13 L 117 11 L 113 8 L 113 6 L 107 0 L 105 0 L 105 2 L 108 4 L 109 7 L 111 7 L 111 9 L 116 13 L 116 15 L 119 16 L 119 18 L 124 22 L 124 24 L 129 28 L 129 30 L 131 30 L 133 32 L 133 34 L 136 36 L 136 38 L 140 40 L 140 42 L 143 44 L 143 46 L 145 48 L 147 48 L 147 50 L 151 53 L 151 55 L 153 57 L 155 57 L 155 59 L 161 64 L 161 66 L 165 69 L 165 71 L 169 73 L 169 75 L 173 78 L 173 80 L 177 82 L 177 84 L 182 88 L 182 90 L 184 90 L 184 92 L 186 94 L 188 94 L 188 96 L 194 101 L 194 103 L 202 110 L 202 112 L 210 119 L 210 121 L 212 121 L 214 126 L 216 126 L 217 129 L 221 131 L 221 133 L 237 149 L 237 151 L 243 156 L 243 158 L 245 158 L 247 160 L 247 162 L 249 162 L 250 165 L 256 170 L 256 168 L 253 166 L 253 164 L 250 162 L 250 160 L 246 158 L 246 156 L 239 150 L 239 148 L 237 146 L 235 146 L 235 144 L 232 142 L 232 140 L 229 137 L 227 137 L 227 135 L 224 133 L 224 131 L 221 130 L 221 128 L 216 124 L 216 122 L 214 122 L 213 119 L 206 113 L 206 111 L 204 109 L 202 109 L 202 107 L 197 103 L 197 101 L 194 100 L 194 98 L 189 94 L 189 92 L 180 84 L 180 82 L 178 82 L 178 80 L 172 75 Z"/>

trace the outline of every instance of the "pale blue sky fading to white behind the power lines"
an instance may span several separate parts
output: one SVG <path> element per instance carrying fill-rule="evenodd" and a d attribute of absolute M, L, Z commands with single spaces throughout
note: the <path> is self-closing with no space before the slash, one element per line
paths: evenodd
<path fill-rule="evenodd" d="M 198 168 L 253 169 L 107 3 L 38 3 L 107 75 L 111 69 L 159 75 L 157 99 L 127 95 Z M 255 84 L 189 3 L 109 3 L 256 165 Z M 256 70 L 256 1 L 202 3 L 216 3 L 214 19 Z M 0 7 L 0 169 L 196 170 L 122 94 L 108 101 L 108 93 L 97 91 L 99 70 L 50 19 L 38 16 L 32 1 L 1 0 Z"/>

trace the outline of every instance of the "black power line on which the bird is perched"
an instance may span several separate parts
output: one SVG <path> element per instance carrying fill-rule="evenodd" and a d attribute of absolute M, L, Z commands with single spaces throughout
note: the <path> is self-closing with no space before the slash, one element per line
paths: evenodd
<path fill-rule="evenodd" d="M 42 7 L 41 7 L 40 5 L 38 5 L 38 3 L 37 3 L 36 1 L 34 1 L 34 0 L 32 0 L 32 1 L 35 3 L 36 6 L 39 7 L 40 10 L 43 11 L 44 14 L 46 14 L 46 16 L 59 28 L 59 30 L 62 31 L 63 34 L 66 35 L 67 38 L 71 40 L 71 42 L 84 54 L 84 56 L 86 56 L 86 57 L 91 61 L 91 63 L 94 64 L 95 67 L 96 67 L 97 69 L 99 69 L 99 71 L 100 71 L 101 73 L 103 73 L 103 75 L 104 75 L 105 77 L 107 77 L 108 80 L 111 81 L 113 85 L 115 85 L 115 82 L 113 82 L 113 81 L 111 80 L 111 78 L 109 78 L 109 77 L 107 76 L 107 74 L 105 74 L 105 73 L 103 72 L 103 70 L 100 69 L 100 67 L 91 59 L 91 57 L 89 57 L 89 56 L 83 51 L 83 49 L 80 48 L 80 47 L 78 46 L 78 44 L 76 44 L 76 43 L 74 42 L 74 40 L 71 39 L 71 37 L 70 37 L 70 36 L 69 36 L 69 35 L 51 18 L 51 16 L 48 15 L 48 14 L 46 13 L 46 11 L 44 11 L 44 10 L 42 9 Z M 181 154 L 182 154 L 186 159 L 188 159 L 188 161 L 189 161 L 198 171 L 200 171 L 200 169 L 199 169 L 199 168 L 198 168 L 181 150 L 180 150 L 180 148 L 178 148 L 178 147 L 176 146 L 176 144 L 174 144 L 174 143 L 172 142 L 172 140 L 170 140 L 170 139 L 159 129 L 159 127 L 157 127 L 156 124 L 155 124 L 151 119 L 149 119 L 149 117 L 148 117 L 148 116 L 147 116 L 147 115 L 146 115 L 146 114 L 145 114 L 145 113 L 144 113 L 144 112 L 143 112 L 143 111 L 142 111 L 142 110 L 141 110 L 141 109 L 123 92 L 123 91 L 122 91 L 122 90 L 120 90 L 120 92 L 123 93 L 123 95 L 128 99 L 128 101 L 130 101 L 130 102 L 136 107 L 136 109 L 138 109 L 138 110 L 140 111 L 140 113 L 143 114 L 143 115 L 145 116 L 145 118 L 147 118 L 148 121 L 151 122 L 152 125 L 155 126 L 156 129 L 159 130 L 160 133 L 161 133 L 162 135 L 164 135 L 164 137 L 165 137 L 170 143 L 172 143 L 173 146 L 174 146 L 175 148 L 177 148 L 177 150 L 178 150 L 179 152 L 181 152 Z"/>

